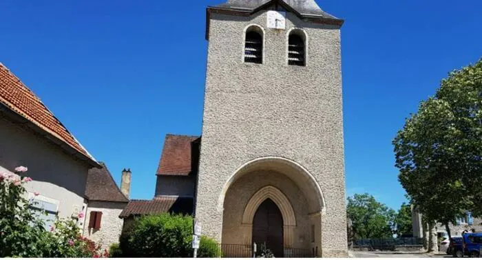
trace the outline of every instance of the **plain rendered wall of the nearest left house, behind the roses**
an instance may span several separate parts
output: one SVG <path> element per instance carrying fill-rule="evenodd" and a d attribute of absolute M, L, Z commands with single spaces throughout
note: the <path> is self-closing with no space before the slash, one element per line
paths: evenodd
<path fill-rule="evenodd" d="M 83 209 L 90 168 L 86 163 L 2 117 L 0 151 L 0 170 L 12 173 L 17 166 L 28 167 L 26 175 L 33 181 L 25 188 L 55 204 L 60 218 L 71 219 Z"/>

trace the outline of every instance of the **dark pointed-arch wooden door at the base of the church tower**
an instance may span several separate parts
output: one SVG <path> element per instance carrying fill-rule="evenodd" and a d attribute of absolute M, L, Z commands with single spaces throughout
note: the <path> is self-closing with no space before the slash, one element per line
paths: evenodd
<path fill-rule="evenodd" d="M 266 243 L 275 257 L 283 257 L 283 217 L 280 209 L 271 199 L 266 199 L 256 210 L 253 218 L 253 239 L 258 252 Z"/>

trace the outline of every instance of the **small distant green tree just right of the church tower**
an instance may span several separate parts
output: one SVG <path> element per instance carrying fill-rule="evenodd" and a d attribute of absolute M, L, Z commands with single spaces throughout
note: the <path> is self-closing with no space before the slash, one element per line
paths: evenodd
<path fill-rule="evenodd" d="M 386 239 L 392 237 L 395 211 L 378 202 L 372 195 L 348 197 L 346 214 L 352 221 L 355 239 Z"/>

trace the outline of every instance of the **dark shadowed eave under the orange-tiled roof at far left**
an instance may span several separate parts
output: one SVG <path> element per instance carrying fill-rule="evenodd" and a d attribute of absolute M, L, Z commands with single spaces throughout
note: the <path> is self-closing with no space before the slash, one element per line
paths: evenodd
<path fill-rule="evenodd" d="M 3 112 L 3 113 L 1 113 Z M 70 144 L 66 143 L 65 141 L 59 139 L 59 137 L 54 136 L 54 134 L 51 134 L 50 132 L 43 130 L 41 127 L 37 126 L 35 123 L 32 121 L 26 119 L 23 117 L 21 114 L 18 112 L 12 110 L 8 106 L 6 106 L 3 103 L 0 103 L 0 114 L 5 115 L 8 117 L 12 123 L 19 123 L 25 126 L 28 126 L 28 128 L 34 130 L 34 132 L 38 133 L 41 137 L 44 137 L 45 139 L 48 139 L 48 141 L 54 143 L 56 146 L 59 146 L 62 148 L 62 150 L 77 159 L 80 159 L 81 161 L 84 161 L 85 163 L 89 164 L 90 166 L 94 168 L 102 168 L 102 166 L 95 161 L 94 159 L 87 157 L 87 155 L 83 154 L 82 152 L 78 151 L 77 149 L 73 148 L 70 146 Z"/>

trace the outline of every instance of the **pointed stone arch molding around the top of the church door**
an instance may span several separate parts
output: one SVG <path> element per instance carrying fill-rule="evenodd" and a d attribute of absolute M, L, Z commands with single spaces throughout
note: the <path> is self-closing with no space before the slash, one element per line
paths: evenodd
<path fill-rule="evenodd" d="M 296 226 L 295 211 L 293 210 L 289 199 L 283 194 L 283 192 L 281 192 L 281 190 L 278 190 L 273 186 L 261 188 L 253 195 L 253 197 L 251 197 L 251 199 L 249 199 L 246 208 L 244 208 L 244 213 L 242 214 L 242 224 L 253 224 L 256 210 L 258 210 L 261 203 L 266 199 L 271 199 L 280 209 L 283 216 L 283 226 Z"/>

